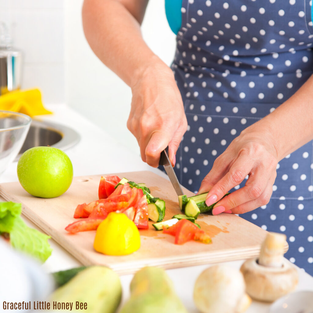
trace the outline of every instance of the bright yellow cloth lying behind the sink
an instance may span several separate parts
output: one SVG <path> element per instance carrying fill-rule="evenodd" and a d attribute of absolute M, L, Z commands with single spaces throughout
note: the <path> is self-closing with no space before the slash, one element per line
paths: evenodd
<path fill-rule="evenodd" d="M 30 117 L 52 114 L 44 108 L 39 89 L 15 90 L 0 96 L 0 110 L 20 112 Z"/>

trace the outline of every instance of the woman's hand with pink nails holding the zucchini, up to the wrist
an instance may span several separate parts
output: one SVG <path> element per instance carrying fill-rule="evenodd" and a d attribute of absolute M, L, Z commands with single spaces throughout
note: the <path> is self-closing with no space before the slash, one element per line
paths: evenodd
<path fill-rule="evenodd" d="M 201 183 L 198 193 L 209 191 L 208 206 L 219 200 L 213 208 L 214 215 L 225 211 L 242 214 L 269 202 L 279 159 L 271 132 L 256 128 L 254 124 L 235 138 Z M 247 175 L 244 187 L 222 199 Z"/>

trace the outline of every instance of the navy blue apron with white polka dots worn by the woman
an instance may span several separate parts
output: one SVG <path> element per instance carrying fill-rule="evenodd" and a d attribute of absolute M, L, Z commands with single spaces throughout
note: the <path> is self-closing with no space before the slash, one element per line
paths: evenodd
<path fill-rule="evenodd" d="M 175 166 L 183 186 L 197 192 L 229 143 L 313 73 L 310 10 L 309 0 L 182 1 L 172 69 L 188 121 Z M 312 157 L 309 142 L 281 160 L 270 202 L 241 215 L 285 233 L 285 256 L 311 275 Z"/>

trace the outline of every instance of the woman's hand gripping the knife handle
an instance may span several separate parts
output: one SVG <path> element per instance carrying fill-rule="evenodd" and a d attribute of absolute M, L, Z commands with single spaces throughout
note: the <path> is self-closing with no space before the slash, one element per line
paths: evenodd
<path fill-rule="evenodd" d="M 168 146 L 169 159 L 174 166 L 176 151 L 187 130 L 174 74 L 162 61 L 151 63 L 138 72 L 131 84 L 127 128 L 136 137 L 144 162 L 157 167 L 160 153 Z"/>

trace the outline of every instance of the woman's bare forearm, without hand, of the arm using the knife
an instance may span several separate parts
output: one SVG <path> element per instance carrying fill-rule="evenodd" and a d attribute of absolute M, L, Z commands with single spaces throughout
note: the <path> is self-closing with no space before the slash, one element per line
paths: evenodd
<path fill-rule="evenodd" d="M 98 58 L 131 86 L 149 65 L 166 65 L 144 42 L 140 23 L 148 0 L 85 0 L 85 36 Z"/>

